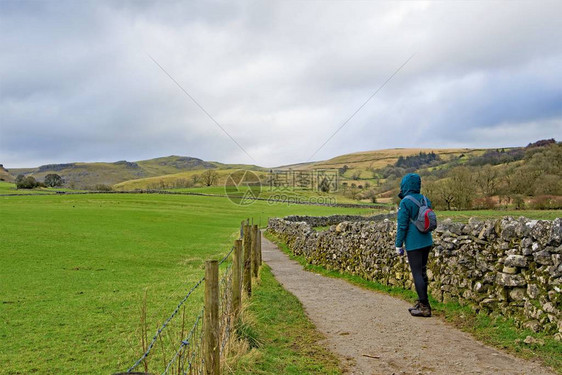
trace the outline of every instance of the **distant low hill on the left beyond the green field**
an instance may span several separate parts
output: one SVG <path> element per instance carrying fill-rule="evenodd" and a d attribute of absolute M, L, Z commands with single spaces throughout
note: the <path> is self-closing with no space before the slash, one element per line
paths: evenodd
<path fill-rule="evenodd" d="M 95 185 L 114 185 L 128 180 L 176 174 L 206 169 L 259 169 L 252 165 L 228 165 L 208 162 L 186 156 L 167 156 L 136 162 L 117 161 L 114 163 L 65 163 L 48 164 L 37 168 L 14 168 L 10 170 L 12 180 L 18 174 L 31 175 L 42 181 L 47 174 L 56 173 L 65 181 L 65 186 L 86 188 Z"/>

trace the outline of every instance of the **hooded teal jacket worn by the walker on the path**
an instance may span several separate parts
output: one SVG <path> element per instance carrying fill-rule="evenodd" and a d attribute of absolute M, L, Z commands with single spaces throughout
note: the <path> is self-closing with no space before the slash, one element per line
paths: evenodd
<path fill-rule="evenodd" d="M 433 245 L 431 232 L 420 232 L 412 220 L 418 216 L 418 206 L 409 199 L 404 199 L 410 195 L 414 199 L 421 202 L 423 195 L 420 194 L 421 178 L 416 173 L 409 173 L 402 179 L 400 183 L 400 208 L 398 209 L 398 225 L 396 228 L 396 247 L 406 245 L 407 251 L 421 249 L 423 247 Z M 427 198 L 426 198 L 427 199 Z M 431 207 L 431 202 L 427 199 L 427 204 Z M 412 220 L 410 220 L 412 219 Z"/>

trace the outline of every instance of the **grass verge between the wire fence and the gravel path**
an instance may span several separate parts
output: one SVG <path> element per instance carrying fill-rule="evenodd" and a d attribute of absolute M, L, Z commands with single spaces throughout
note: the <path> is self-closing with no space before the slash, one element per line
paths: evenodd
<path fill-rule="evenodd" d="M 243 336 L 257 343 L 232 364 L 230 374 L 341 374 L 338 358 L 319 342 L 324 339 L 299 300 L 283 289 L 264 264 L 246 314 Z M 252 346 L 252 345 L 251 345 Z"/>

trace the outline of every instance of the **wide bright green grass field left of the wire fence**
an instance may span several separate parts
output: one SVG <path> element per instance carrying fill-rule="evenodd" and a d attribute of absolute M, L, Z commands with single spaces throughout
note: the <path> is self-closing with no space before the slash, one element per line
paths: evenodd
<path fill-rule="evenodd" d="M 373 213 L 198 196 L 0 197 L 0 373 L 126 370 L 141 354 L 145 291 L 152 336 L 242 219 L 340 212 Z M 187 312 L 200 303 L 198 293 Z"/>

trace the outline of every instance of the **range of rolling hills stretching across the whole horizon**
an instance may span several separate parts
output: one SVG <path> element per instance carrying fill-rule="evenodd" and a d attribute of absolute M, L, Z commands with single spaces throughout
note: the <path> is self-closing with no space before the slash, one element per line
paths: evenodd
<path fill-rule="evenodd" d="M 562 202 L 561 160 L 562 144 L 550 139 L 530 143 L 526 147 L 500 149 L 395 148 L 363 151 L 273 169 L 337 169 L 340 188 L 330 191 L 330 194 L 352 201 L 391 203 L 402 176 L 417 172 L 426 182 L 425 192 L 441 207 L 508 204 L 523 207 L 532 203 L 536 207 L 551 208 Z M 10 170 L 11 176 L 2 168 L 0 178 L 4 176 L 5 180 L 13 180 L 17 174 L 24 174 L 42 181 L 47 174 L 57 173 L 66 180 L 65 187 L 70 188 L 95 188 L 103 184 L 112 186 L 114 190 L 188 188 L 191 191 L 194 188 L 207 192 L 207 183 L 203 179 L 206 171 L 213 171 L 212 185 L 218 187 L 224 185 L 227 176 L 238 169 L 255 171 L 262 183 L 268 179 L 269 168 L 175 155 L 137 162 L 43 165 Z M 470 194 L 467 193 L 470 200 L 450 198 L 459 190 L 470 191 Z"/>

